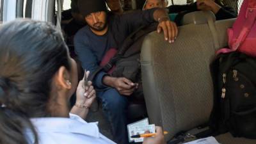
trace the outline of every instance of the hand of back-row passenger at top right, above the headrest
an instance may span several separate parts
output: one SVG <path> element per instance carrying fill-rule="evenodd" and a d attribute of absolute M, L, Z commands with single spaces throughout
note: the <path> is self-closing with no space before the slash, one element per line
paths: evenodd
<path fill-rule="evenodd" d="M 221 6 L 216 4 L 214 0 L 197 0 L 196 6 L 198 10 L 211 10 L 213 13 L 218 13 Z"/>

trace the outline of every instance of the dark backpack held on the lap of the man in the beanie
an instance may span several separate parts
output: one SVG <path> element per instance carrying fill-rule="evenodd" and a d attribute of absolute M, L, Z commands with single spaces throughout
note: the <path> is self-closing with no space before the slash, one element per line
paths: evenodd
<path fill-rule="evenodd" d="M 145 36 L 156 31 L 157 23 L 151 24 L 150 26 L 141 26 L 136 31 L 131 33 L 131 35 L 125 38 L 124 43 L 118 48 L 118 52 L 109 60 L 109 62 L 103 67 L 97 68 L 89 76 L 89 80 L 96 76 L 98 72 L 103 70 L 108 72 L 114 65 L 111 76 L 113 77 L 125 77 L 131 80 L 133 83 L 138 83 L 138 89 L 132 93 L 132 99 L 138 102 L 143 102 L 143 91 L 141 83 L 141 68 L 140 68 L 140 52 L 141 46 Z"/>

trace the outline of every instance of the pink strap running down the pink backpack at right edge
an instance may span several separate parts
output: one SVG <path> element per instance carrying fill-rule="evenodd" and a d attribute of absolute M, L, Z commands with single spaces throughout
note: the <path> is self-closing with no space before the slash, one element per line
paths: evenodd
<path fill-rule="evenodd" d="M 236 51 L 239 46 L 244 42 L 246 36 L 250 33 L 250 30 L 256 20 L 256 1 L 248 0 L 248 8 L 246 10 L 246 21 L 244 22 L 243 28 L 239 36 L 237 37 L 236 42 L 231 45 L 232 51 Z"/>

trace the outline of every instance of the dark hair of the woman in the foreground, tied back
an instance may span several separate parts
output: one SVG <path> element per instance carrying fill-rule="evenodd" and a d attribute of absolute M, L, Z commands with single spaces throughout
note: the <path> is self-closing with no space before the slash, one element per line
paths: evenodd
<path fill-rule="evenodd" d="M 15 20 L 0 27 L 0 143 L 27 144 L 38 136 L 29 118 L 51 116 L 52 77 L 70 70 L 67 45 L 47 22 Z"/>

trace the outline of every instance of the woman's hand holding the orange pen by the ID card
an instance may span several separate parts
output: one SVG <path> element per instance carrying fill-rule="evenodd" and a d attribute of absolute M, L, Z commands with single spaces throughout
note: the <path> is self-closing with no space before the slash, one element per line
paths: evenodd
<path fill-rule="evenodd" d="M 161 127 L 156 126 L 156 136 L 150 138 L 144 138 L 143 144 L 164 144 L 164 134 L 163 129 Z"/>

